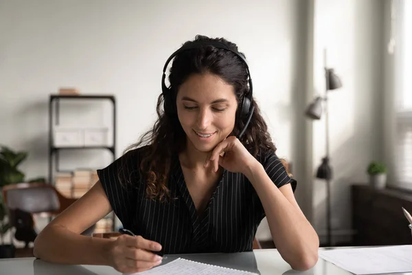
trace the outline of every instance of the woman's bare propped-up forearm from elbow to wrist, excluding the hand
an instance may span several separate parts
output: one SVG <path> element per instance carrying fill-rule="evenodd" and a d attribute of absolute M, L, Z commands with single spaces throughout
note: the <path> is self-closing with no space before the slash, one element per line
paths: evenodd
<path fill-rule="evenodd" d="M 273 242 L 294 270 L 308 270 L 318 260 L 319 237 L 299 208 L 290 184 L 277 188 L 262 164 L 245 173 L 266 213 Z"/>

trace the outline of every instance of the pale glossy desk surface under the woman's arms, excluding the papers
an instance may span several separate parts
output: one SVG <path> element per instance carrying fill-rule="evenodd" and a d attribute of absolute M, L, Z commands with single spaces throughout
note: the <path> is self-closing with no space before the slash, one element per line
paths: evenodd
<path fill-rule="evenodd" d="M 341 249 L 341 248 L 331 248 Z M 312 274 L 312 275 L 348 275 L 352 274 L 340 267 L 319 258 L 317 265 L 306 272 L 291 270 L 277 250 L 254 250 L 235 254 L 181 254 L 168 255 L 162 264 L 177 258 L 190 259 L 212 265 L 247 270 L 258 274 Z M 0 259 L 0 275 L 34 274 L 34 275 L 119 275 L 113 267 L 100 265 L 56 265 L 34 258 Z M 408 273 L 412 274 L 412 273 Z M 397 273 L 401 275 L 401 273 Z"/>

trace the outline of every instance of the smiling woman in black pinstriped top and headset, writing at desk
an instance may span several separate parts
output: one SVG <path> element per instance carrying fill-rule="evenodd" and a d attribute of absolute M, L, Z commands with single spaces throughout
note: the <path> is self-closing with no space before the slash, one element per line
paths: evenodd
<path fill-rule="evenodd" d="M 312 267 L 318 236 L 275 155 L 237 46 L 196 36 L 166 62 L 162 89 L 152 131 L 98 170 L 95 186 L 38 235 L 34 255 L 141 272 L 161 263 L 158 252 L 250 251 L 266 216 L 285 261 L 295 270 Z M 137 237 L 80 234 L 111 210 Z"/>

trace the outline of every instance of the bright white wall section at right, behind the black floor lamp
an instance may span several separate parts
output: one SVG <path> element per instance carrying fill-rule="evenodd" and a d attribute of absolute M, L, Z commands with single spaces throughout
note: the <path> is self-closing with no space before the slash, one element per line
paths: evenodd
<path fill-rule="evenodd" d="M 367 182 L 372 159 L 381 159 L 385 0 L 318 0 L 314 8 L 314 93 L 324 93 L 323 49 L 328 67 L 343 88 L 330 92 L 332 228 L 336 241 L 348 239 L 351 228 L 350 185 Z M 324 120 L 313 123 L 314 173 L 325 154 Z M 313 182 L 313 223 L 325 234 L 325 184 Z"/>

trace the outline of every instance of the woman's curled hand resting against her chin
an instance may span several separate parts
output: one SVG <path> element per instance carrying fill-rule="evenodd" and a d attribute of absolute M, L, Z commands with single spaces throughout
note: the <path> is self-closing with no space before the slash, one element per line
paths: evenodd
<path fill-rule="evenodd" d="M 206 159 L 205 167 L 211 166 L 214 172 L 218 171 L 219 165 L 232 173 L 246 175 L 251 166 L 258 160 L 244 148 L 237 137 L 230 136 L 220 142 Z"/>

